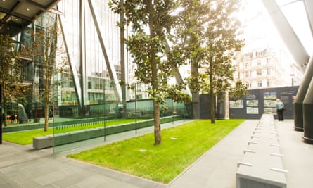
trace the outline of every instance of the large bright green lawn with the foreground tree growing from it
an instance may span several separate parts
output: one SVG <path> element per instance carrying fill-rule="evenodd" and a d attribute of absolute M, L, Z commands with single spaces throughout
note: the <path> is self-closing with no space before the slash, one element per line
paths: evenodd
<path fill-rule="evenodd" d="M 68 155 L 113 170 L 168 183 L 244 120 L 196 120 L 162 130 L 162 145 L 146 134 Z"/>

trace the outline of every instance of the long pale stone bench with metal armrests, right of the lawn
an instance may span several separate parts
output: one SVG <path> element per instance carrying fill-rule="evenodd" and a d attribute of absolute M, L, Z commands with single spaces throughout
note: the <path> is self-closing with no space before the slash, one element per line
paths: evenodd
<path fill-rule="evenodd" d="M 287 187 L 273 115 L 262 115 L 243 153 L 243 160 L 237 164 L 237 188 Z"/>

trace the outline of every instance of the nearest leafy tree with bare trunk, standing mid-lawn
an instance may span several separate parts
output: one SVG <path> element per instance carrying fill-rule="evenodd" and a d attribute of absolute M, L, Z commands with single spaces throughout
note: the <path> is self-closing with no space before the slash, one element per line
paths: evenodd
<path fill-rule="evenodd" d="M 137 67 L 135 75 L 139 82 L 148 84 L 148 93 L 153 99 L 153 118 L 155 145 L 162 143 L 160 127 L 160 104 L 165 96 L 176 101 L 189 100 L 189 96 L 181 92 L 183 84 L 168 86 L 168 78 L 174 76 L 176 68 L 181 65 L 177 61 L 180 55 L 165 50 L 166 35 L 172 27 L 170 13 L 176 7 L 172 0 L 113 0 L 109 3 L 115 13 L 124 15 L 124 24 L 132 27 L 128 39 L 124 39 L 131 53 L 132 61 Z"/>

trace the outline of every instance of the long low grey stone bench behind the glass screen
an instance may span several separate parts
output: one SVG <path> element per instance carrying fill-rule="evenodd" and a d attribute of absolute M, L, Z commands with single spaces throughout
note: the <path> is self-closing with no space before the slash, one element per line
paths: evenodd
<path fill-rule="evenodd" d="M 172 115 L 161 118 L 161 123 L 168 123 L 174 120 L 181 120 L 182 115 Z M 117 134 L 120 132 L 126 132 L 129 130 L 140 129 L 143 127 L 149 127 L 153 125 L 153 119 L 141 120 L 137 123 L 125 123 L 122 125 L 91 128 L 88 130 L 77 130 L 73 132 L 65 132 L 60 134 L 47 135 L 41 137 L 32 138 L 32 146 L 34 149 L 44 149 L 51 146 L 60 146 L 72 142 L 79 142 L 86 139 L 93 139 L 96 137 L 103 137 L 104 135 Z"/>

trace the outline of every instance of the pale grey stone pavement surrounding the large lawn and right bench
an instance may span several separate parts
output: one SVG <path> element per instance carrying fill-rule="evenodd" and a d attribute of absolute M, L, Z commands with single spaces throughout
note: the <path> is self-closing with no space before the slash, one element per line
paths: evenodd
<path fill-rule="evenodd" d="M 167 123 L 162 127 L 172 127 L 186 121 Z M 245 120 L 169 184 L 66 158 L 68 153 L 153 132 L 153 127 L 137 130 L 136 134 L 132 131 L 110 135 L 105 141 L 98 138 L 58 147 L 54 149 L 54 154 L 53 149 L 34 150 L 32 145 L 3 142 L 0 145 L 0 187 L 236 187 L 237 162 L 243 158 L 243 149 L 247 147 L 258 122 Z M 293 120 L 275 120 L 275 124 L 283 166 L 288 170 L 287 187 L 313 187 L 313 145 L 303 142 L 303 132 L 293 130 Z"/>

